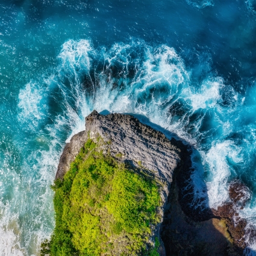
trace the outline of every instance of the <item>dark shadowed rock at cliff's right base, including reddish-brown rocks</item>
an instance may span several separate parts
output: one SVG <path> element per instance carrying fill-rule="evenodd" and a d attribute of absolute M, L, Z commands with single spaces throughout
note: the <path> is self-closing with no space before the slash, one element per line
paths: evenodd
<path fill-rule="evenodd" d="M 179 146 L 183 152 L 182 161 L 173 176 L 161 226 L 166 255 L 243 255 L 247 223 L 239 217 L 238 211 L 249 199 L 248 187 L 235 180 L 229 184 L 230 202 L 217 210 L 207 206 L 193 207 L 193 187 L 187 186 L 195 171 L 190 157 L 192 148 Z M 196 204 L 201 205 L 199 201 Z M 255 230 L 250 234 L 251 239 L 255 239 Z"/>

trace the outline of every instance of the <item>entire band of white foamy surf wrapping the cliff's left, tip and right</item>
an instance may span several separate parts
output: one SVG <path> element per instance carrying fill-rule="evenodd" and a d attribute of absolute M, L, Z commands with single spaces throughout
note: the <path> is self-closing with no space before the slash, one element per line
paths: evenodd
<path fill-rule="evenodd" d="M 234 166 L 245 159 L 242 146 L 225 136 L 236 131 L 237 115 L 249 99 L 226 88 L 223 79 L 211 73 L 201 84 L 193 84 L 183 59 L 166 45 L 154 48 L 131 40 L 95 49 L 84 39 L 64 43 L 58 63 L 35 76 L 19 93 L 22 128 L 14 139 L 26 159 L 20 166 L 23 186 L 14 184 L 16 193 L 24 195 L 22 207 L 13 218 L 17 220 L 28 209 L 30 215 L 28 225 L 17 224 L 17 234 L 5 231 L 1 243 L 14 248 L 22 237 L 23 247 L 34 248 L 20 252 L 39 254 L 40 242 L 49 237 L 54 225 L 49 185 L 58 159 L 64 143 L 84 130 L 84 117 L 93 109 L 146 116 L 195 146 L 195 199 L 208 197 L 195 204 L 216 208 L 228 201 L 228 183 L 237 175 Z M 19 201 L 10 201 L 0 222 L 17 205 Z"/>

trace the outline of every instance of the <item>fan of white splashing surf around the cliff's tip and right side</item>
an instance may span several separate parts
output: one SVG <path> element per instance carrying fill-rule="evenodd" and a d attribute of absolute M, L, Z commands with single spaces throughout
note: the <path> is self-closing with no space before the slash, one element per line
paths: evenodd
<path fill-rule="evenodd" d="M 49 147 L 40 152 L 46 161 L 43 166 L 50 155 L 55 155 L 57 163 L 60 145 L 54 138 L 65 130 L 66 137 L 68 131 L 74 134 L 83 130 L 84 116 L 93 109 L 139 114 L 198 149 L 210 207 L 217 208 L 228 201 L 228 182 L 241 169 L 246 172 L 249 168 L 244 151 L 251 153 L 251 158 L 254 154 L 253 149 L 249 152 L 245 148 L 252 133 L 248 138 L 244 132 L 252 127 L 239 123 L 248 111 L 246 102 L 251 101 L 253 93 L 242 97 L 231 90 L 232 95 L 226 92 L 222 78 L 213 75 L 195 88 L 183 60 L 173 48 L 165 45 L 152 48 L 139 40 L 116 43 L 109 50 L 96 50 L 87 40 L 69 40 L 58 58 L 60 64 L 51 79 L 42 76 L 19 93 L 20 122 L 26 123 L 30 132 L 39 130 L 47 119 L 54 120 L 48 121 L 42 136 L 35 138 L 42 146 L 47 143 Z M 229 101 L 228 107 L 225 100 Z M 47 107 L 51 101 L 58 102 L 54 111 Z M 196 161 L 199 160 L 194 164 Z M 39 166 L 41 175 L 43 166 Z M 193 182 L 195 196 L 206 196 L 200 178 L 194 176 Z M 246 213 L 242 213 L 246 219 L 255 221 L 251 213 L 249 216 Z"/>

